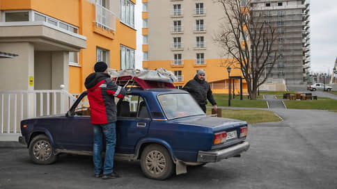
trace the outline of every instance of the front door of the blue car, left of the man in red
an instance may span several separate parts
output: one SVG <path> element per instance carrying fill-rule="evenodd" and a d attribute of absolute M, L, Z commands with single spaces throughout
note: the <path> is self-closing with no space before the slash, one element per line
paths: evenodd
<path fill-rule="evenodd" d="M 75 151 L 93 150 L 93 124 L 86 94 L 81 95 L 63 120 L 61 144 L 65 149 Z"/>

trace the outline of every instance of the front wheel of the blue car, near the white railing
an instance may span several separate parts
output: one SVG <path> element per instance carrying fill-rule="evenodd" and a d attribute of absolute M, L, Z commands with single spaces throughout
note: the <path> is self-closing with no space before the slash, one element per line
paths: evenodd
<path fill-rule="evenodd" d="M 56 161 L 52 141 L 46 135 L 37 135 L 29 144 L 29 156 L 36 164 L 47 165 Z"/>

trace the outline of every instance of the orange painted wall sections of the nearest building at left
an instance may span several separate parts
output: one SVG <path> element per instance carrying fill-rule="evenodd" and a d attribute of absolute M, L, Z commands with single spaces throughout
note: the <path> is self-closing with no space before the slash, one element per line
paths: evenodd
<path fill-rule="evenodd" d="M 69 66 L 69 92 L 86 90 L 86 76 L 94 72 L 96 47 L 110 51 L 110 67 L 120 69 L 120 44 L 136 50 L 136 30 L 116 18 L 116 32 L 95 28 L 95 5 L 87 0 L 0 0 L 1 10 L 36 10 L 79 28 L 86 36 L 86 49 L 79 52 L 79 65 Z M 136 3 L 136 0 L 131 0 Z"/>

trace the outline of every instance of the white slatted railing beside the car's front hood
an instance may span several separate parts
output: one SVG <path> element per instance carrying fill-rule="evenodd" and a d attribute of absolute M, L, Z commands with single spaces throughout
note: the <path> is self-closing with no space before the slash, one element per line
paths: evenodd
<path fill-rule="evenodd" d="M 19 133 L 21 120 L 66 113 L 76 97 L 66 90 L 1 90 L 0 133 Z"/>

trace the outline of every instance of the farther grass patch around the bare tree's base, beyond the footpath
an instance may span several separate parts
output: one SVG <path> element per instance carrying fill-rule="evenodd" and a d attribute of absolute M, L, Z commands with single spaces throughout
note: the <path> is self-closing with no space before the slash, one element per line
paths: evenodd
<path fill-rule="evenodd" d="M 213 94 L 217 106 L 228 106 L 228 94 Z M 207 104 L 207 106 L 211 106 Z M 262 100 L 247 100 L 247 97 L 244 97 L 244 100 L 240 100 L 240 96 L 235 96 L 235 99 L 230 101 L 230 106 L 233 107 L 245 107 L 245 108 L 268 108 L 266 101 Z"/>

